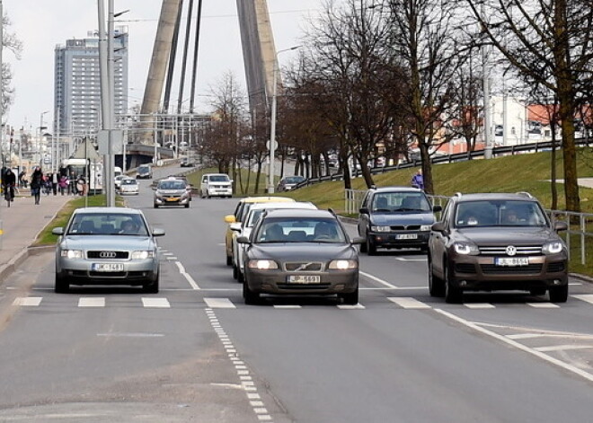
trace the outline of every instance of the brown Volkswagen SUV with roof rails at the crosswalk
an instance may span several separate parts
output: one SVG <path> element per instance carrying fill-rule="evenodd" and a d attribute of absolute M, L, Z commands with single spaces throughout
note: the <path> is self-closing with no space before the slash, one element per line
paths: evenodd
<path fill-rule="evenodd" d="M 456 194 L 432 225 L 429 293 L 457 303 L 465 291 L 526 290 L 564 303 L 568 251 L 544 207 L 527 193 Z"/>

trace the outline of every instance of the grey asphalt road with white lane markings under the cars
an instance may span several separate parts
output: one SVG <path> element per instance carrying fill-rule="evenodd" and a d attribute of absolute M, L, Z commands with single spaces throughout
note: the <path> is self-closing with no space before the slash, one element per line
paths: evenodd
<path fill-rule="evenodd" d="M 225 264 L 236 199 L 154 209 L 140 184 L 128 205 L 167 232 L 161 292 L 57 295 L 52 254 L 31 257 L 0 287 L 0 421 L 591 421 L 591 286 L 445 304 L 424 256 L 385 251 L 361 255 L 358 306 L 247 306 Z"/>

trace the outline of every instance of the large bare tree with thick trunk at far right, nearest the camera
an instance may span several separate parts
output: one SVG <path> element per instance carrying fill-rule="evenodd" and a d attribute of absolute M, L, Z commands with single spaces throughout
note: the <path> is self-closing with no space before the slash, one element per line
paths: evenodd
<path fill-rule="evenodd" d="M 527 81 L 558 99 L 566 207 L 580 210 L 574 119 L 591 81 L 590 0 L 465 0 L 479 31 Z"/>

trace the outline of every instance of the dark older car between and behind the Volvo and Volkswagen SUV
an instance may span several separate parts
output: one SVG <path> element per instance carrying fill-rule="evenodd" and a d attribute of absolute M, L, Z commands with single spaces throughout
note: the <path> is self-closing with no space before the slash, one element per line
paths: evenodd
<path fill-rule="evenodd" d="M 358 234 L 365 238 L 361 251 L 376 254 L 377 248 L 428 249 L 432 207 L 421 189 L 382 187 L 368 189 L 358 215 Z"/>

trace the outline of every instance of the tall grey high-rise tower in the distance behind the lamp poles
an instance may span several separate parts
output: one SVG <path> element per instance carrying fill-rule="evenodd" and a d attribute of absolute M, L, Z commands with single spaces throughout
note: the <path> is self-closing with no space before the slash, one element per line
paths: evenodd
<path fill-rule="evenodd" d="M 99 38 L 66 40 L 56 47 L 54 132 L 83 137 L 101 128 Z M 128 111 L 128 27 L 115 29 L 115 114 Z"/>

